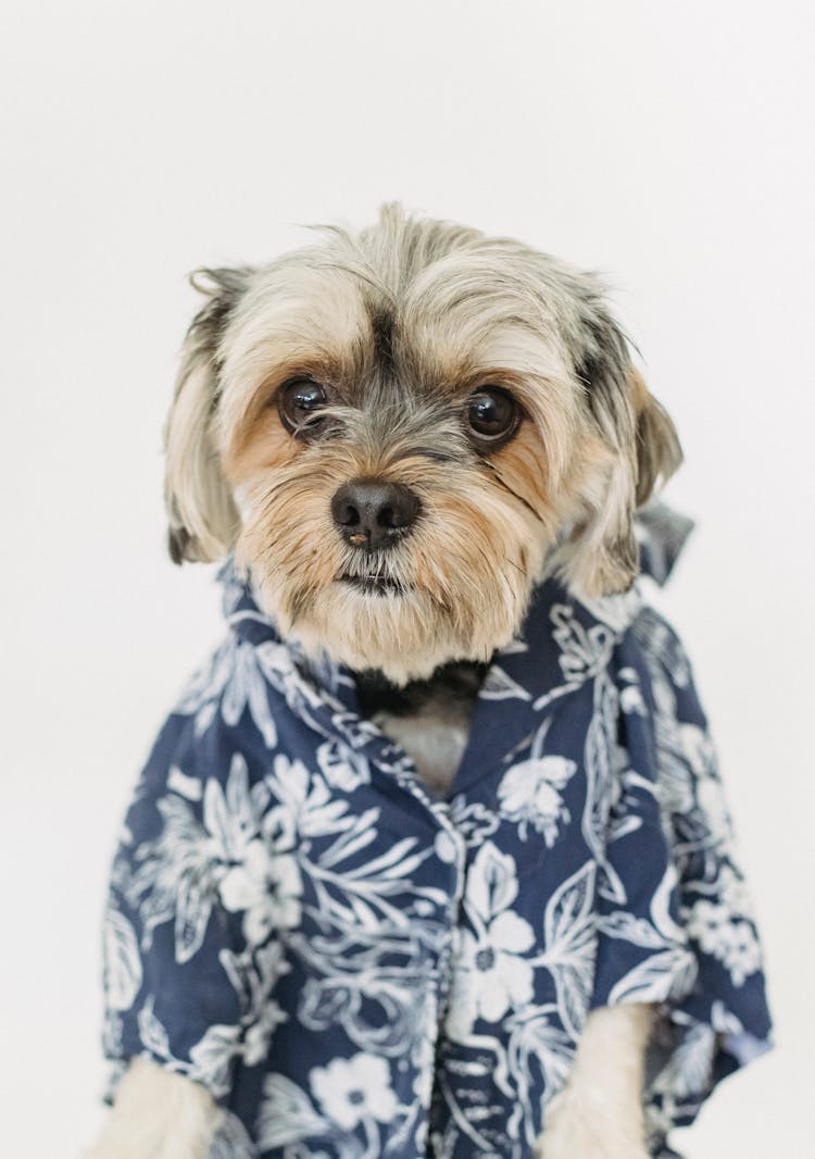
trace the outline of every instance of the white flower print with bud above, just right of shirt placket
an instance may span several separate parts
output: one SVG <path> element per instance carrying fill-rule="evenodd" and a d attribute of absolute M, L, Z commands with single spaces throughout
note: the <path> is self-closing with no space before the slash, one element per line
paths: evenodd
<path fill-rule="evenodd" d="M 464 899 L 472 930 L 462 930 L 454 970 L 447 1030 L 467 1041 L 476 1019 L 498 1022 L 512 1007 L 529 1003 L 534 968 L 526 954 L 535 934 L 512 912 L 517 896 L 515 862 L 487 841 L 472 863 Z"/>

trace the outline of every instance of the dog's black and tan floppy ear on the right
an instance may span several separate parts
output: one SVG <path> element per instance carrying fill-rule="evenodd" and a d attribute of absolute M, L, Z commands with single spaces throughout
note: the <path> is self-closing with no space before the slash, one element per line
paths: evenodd
<path fill-rule="evenodd" d="M 581 593 L 596 597 L 627 591 L 637 578 L 634 510 L 658 479 L 674 473 L 682 452 L 668 414 L 631 365 L 622 330 L 601 302 L 590 305 L 577 376 L 594 427 L 593 484 L 561 570 Z"/>

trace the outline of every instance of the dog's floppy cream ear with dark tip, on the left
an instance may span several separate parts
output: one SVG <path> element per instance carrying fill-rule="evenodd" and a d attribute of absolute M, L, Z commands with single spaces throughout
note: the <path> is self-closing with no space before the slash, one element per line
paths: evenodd
<path fill-rule="evenodd" d="M 251 270 L 197 270 L 190 277 L 207 300 L 184 340 L 172 406 L 164 427 L 164 501 L 175 563 L 216 560 L 232 546 L 238 515 L 221 473 L 214 439 L 219 343 Z"/>

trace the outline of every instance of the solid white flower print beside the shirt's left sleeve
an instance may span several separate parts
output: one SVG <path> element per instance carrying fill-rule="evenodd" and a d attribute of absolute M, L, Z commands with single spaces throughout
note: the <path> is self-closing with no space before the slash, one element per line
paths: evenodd
<path fill-rule="evenodd" d="M 241 865 L 221 880 L 220 894 L 227 910 L 243 911 L 243 933 L 250 946 L 260 946 L 273 930 L 291 930 L 300 921 L 298 862 L 262 840 L 249 843 Z"/>

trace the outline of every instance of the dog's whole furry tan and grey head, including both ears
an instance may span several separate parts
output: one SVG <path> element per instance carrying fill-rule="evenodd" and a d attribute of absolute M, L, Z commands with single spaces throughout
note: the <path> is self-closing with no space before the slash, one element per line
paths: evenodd
<path fill-rule="evenodd" d="M 597 280 L 386 206 L 207 271 L 167 427 L 176 561 L 234 549 L 284 634 L 392 680 L 489 659 L 557 570 L 637 573 L 681 454 Z"/>

